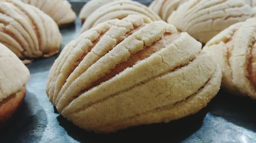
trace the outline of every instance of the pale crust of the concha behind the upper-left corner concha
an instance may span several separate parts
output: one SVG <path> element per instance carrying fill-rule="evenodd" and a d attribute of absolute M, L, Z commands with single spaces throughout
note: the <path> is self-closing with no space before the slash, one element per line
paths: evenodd
<path fill-rule="evenodd" d="M 76 14 L 71 8 L 71 4 L 66 0 L 22 0 L 26 4 L 33 5 L 52 17 L 59 25 L 63 26 L 73 23 Z"/>

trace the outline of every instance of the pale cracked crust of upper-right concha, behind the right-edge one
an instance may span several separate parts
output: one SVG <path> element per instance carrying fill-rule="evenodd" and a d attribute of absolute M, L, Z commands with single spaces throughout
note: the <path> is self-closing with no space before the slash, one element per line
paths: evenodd
<path fill-rule="evenodd" d="M 256 11 L 242 0 L 189 0 L 167 19 L 180 31 L 202 43 L 228 26 L 254 17 Z"/>

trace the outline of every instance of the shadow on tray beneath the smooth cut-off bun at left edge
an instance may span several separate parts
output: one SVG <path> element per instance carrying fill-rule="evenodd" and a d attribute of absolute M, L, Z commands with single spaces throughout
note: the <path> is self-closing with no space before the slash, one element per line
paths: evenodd
<path fill-rule="evenodd" d="M 36 107 L 36 108 L 35 108 Z M 1 142 L 38 142 L 48 124 L 45 110 L 36 96 L 27 91 L 22 106 L 0 131 Z"/>

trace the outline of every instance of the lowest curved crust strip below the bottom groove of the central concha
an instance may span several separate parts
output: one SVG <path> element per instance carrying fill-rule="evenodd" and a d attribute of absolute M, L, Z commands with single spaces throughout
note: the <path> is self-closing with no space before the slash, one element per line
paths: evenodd
<path fill-rule="evenodd" d="M 106 126 L 100 126 L 94 129 L 95 132 L 108 133 L 131 126 L 139 126 L 142 124 L 167 123 L 169 121 L 178 120 L 188 115 L 193 115 L 204 108 L 208 102 L 219 92 L 221 83 L 221 69 L 218 67 L 215 74 L 206 82 L 204 87 L 198 93 L 191 95 L 183 101 L 127 118 L 121 122 L 115 122 Z"/>

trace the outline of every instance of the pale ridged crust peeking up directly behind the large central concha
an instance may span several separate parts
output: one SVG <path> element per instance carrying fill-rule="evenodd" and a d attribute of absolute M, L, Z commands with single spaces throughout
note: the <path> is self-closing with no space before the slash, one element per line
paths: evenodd
<path fill-rule="evenodd" d="M 83 23 L 81 32 L 85 32 L 101 22 L 116 18 L 122 19 L 129 14 L 144 15 L 150 17 L 153 21 L 161 20 L 156 13 L 138 2 L 116 1 L 95 10 Z"/>

